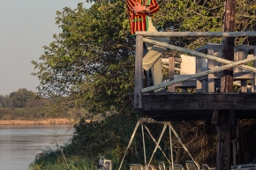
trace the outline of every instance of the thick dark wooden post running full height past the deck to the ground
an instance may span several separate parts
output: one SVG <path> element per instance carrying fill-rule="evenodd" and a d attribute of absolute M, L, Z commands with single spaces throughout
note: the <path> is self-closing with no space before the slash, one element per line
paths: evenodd
<path fill-rule="evenodd" d="M 235 18 L 237 10 L 237 0 L 224 0 L 224 22 L 223 32 L 235 31 Z M 223 38 L 222 58 L 234 61 L 234 38 Z M 233 68 L 222 71 L 221 92 L 233 91 Z M 220 110 L 218 129 L 218 150 L 216 170 L 230 170 L 230 112 L 231 110 Z"/>

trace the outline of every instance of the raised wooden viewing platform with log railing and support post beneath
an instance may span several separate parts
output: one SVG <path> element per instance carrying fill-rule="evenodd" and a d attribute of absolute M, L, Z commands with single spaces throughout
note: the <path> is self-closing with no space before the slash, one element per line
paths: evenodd
<path fill-rule="evenodd" d="M 237 119 L 256 119 L 256 46 L 233 48 L 234 60 L 222 58 L 222 45 L 208 43 L 196 50 L 180 48 L 147 37 L 245 37 L 256 32 L 189 33 L 137 32 L 133 108 L 155 121 L 212 120 L 218 129 L 216 169 L 230 169 L 230 130 Z M 143 86 L 143 41 L 195 57 L 195 74 L 176 75 L 175 58 L 169 57 L 169 80 L 161 85 Z M 249 66 L 246 63 L 251 63 Z M 222 92 L 222 70 L 233 70 L 232 85 L 237 92 Z M 179 92 L 176 89 L 181 89 Z M 187 89 L 194 89 L 188 92 Z M 166 89 L 166 92 L 154 92 Z"/>

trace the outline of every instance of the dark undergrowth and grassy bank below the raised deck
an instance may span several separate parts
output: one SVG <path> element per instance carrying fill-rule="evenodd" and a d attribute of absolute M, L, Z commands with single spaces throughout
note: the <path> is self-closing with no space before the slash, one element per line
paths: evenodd
<path fill-rule="evenodd" d="M 34 162 L 34 169 L 51 169 L 53 167 L 53 169 L 95 169 L 94 162 L 99 160 L 101 156 L 111 159 L 114 169 L 117 169 L 139 116 L 141 115 L 132 113 L 125 113 L 122 116 L 112 115 L 103 122 L 85 122 L 84 119 L 81 119 L 79 124 L 75 125 L 72 143 L 62 147 L 67 164 L 62 153 L 58 150 L 45 151 L 45 156 Z M 215 166 L 217 134 L 215 126 L 211 122 L 173 122 L 172 125 L 192 154 L 193 159 L 200 165 L 207 163 L 209 166 Z M 157 140 L 162 132 L 162 125 L 146 124 L 146 126 Z M 255 128 L 255 121 L 243 120 L 239 122 L 240 157 L 237 159 L 240 163 L 250 163 L 256 158 Z M 251 134 L 251 136 L 247 134 Z M 148 161 L 154 152 L 155 144 L 147 133 L 145 133 L 145 143 Z M 138 129 L 126 154 L 122 169 L 129 169 L 131 163 L 144 164 L 142 144 L 141 129 Z M 191 159 L 174 135 L 172 135 L 172 144 L 175 163 L 184 165 L 185 160 Z M 164 133 L 160 146 L 170 159 L 169 130 Z M 163 157 L 162 152 L 158 149 L 154 154 L 152 164 L 158 165 L 160 161 L 165 162 L 166 165 L 169 164 L 169 161 Z"/>

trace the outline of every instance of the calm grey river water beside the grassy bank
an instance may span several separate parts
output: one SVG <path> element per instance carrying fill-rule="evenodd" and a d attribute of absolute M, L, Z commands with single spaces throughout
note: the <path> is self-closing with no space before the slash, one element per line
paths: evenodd
<path fill-rule="evenodd" d="M 70 125 L 0 125 L 0 170 L 28 169 L 37 153 L 67 144 L 72 133 Z"/>

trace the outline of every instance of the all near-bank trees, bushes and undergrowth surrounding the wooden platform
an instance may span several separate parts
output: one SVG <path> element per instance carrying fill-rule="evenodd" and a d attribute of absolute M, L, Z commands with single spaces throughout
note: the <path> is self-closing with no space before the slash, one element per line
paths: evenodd
<path fill-rule="evenodd" d="M 62 99 L 56 113 L 67 107 L 84 107 L 90 114 L 115 112 L 102 122 L 84 122 L 81 119 L 75 126 L 72 143 L 64 145 L 67 164 L 59 151 L 46 152 L 45 156 L 34 162 L 35 169 L 91 169 L 95 159 L 106 156 L 112 159 L 114 169 L 124 155 L 125 147 L 132 135 L 138 118 L 142 115 L 131 109 L 134 75 L 134 38 L 129 33 L 129 20 L 124 1 L 93 1 L 90 9 L 82 4 L 77 9 L 64 8 L 57 11 L 56 24 L 63 30 L 55 34 L 55 41 L 44 47 L 41 62 L 33 62 L 41 84 L 39 97 Z M 222 31 L 223 2 L 220 0 L 161 0 L 161 11 L 155 16 L 158 29 L 162 31 Z M 255 1 L 237 0 L 236 31 L 255 30 Z M 221 42 L 219 38 L 174 38 L 169 43 L 187 48 L 197 48 L 207 42 Z M 253 38 L 237 38 L 236 44 L 254 45 Z M 179 56 L 175 51 L 164 55 Z M 249 126 L 250 124 L 250 126 Z M 184 144 L 200 164 L 215 166 L 216 131 L 210 122 L 173 122 L 174 128 Z M 240 122 L 239 142 L 240 162 L 251 162 L 256 158 L 255 122 Z M 250 128 L 249 128 L 250 127 Z M 150 125 L 153 136 L 158 138 L 162 126 Z M 247 134 L 245 134 L 246 132 Z M 248 141 L 248 134 L 253 137 Z M 147 155 L 153 152 L 154 143 L 147 136 Z M 169 136 L 165 134 L 161 144 L 169 156 Z M 143 164 L 141 135 L 135 137 L 123 169 L 131 163 Z M 177 139 L 175 162 L 183 163 L 190 159 Z M 152 147 L 153 146 L 153 147 Z M 248 146 L 248 147 L 247 147 Z M 249 154 L 250 152 L 250 154 Z M 245 156 L 246 155 L 246 156 Z M 86 159 L 84 163 L 82 162 Z M 163 160 L 157 152 L 154 162 Z M 54 168 L 53 168 L 54 167 Z"/>

